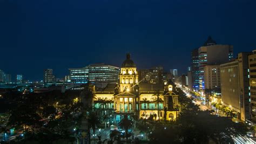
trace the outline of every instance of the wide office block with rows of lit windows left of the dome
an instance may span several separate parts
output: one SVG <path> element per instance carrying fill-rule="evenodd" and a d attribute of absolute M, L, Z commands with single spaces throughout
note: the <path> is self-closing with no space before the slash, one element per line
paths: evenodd
<path fill-rule="evenodd" d="M 69 68 L 69 80 L 75 84 L 86 84 L 88 81 L 98 87 L 104 87 L 103 83 L 117 83 L 119 67 L 92 64 L 83 68 Z"/>

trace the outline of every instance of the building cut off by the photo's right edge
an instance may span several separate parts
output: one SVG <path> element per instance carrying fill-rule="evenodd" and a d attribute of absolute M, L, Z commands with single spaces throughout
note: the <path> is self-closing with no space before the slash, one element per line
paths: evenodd
<path fill-rule="evenodd" d="M 251 119 L 253 122 L 256 122 L 256 50 L 248 56 L 248 65 L 250 73 L 250 95 L 251 98 Z"/>

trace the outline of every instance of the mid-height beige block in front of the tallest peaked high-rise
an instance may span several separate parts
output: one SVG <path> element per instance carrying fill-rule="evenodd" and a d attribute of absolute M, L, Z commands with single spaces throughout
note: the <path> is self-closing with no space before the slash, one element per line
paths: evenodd
<path fill-rule="evenodd" d="M 214 90 L 220 88 L 220 66 L 206 65 L 204 67 L 205 89 Z"/>

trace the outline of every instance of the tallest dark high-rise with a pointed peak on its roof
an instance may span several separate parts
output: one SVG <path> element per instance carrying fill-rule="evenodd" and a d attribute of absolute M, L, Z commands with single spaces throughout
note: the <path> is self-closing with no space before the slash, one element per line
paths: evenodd
<path fill-rule="evenodd" d="M 206 65 L 220 65 L 222 63 L 226 63 L 232 58 L 232 45 L 219 45 L 216 44 L 211 37 L 208 37 L 204 46 L 201 46 L 198 49 L 200 90 L 205 89 L 204 67 Z"/>

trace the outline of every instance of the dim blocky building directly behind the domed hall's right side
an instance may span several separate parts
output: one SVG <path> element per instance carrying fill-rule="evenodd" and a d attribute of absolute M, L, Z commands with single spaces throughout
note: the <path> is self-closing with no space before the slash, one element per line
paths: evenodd
<path fill-rule="evenodd" d="M 139 81 L 150 84 L 161 84 L 163 83 L 163 67 L 156 66 L 151 69 L 139 70 Z"/>

